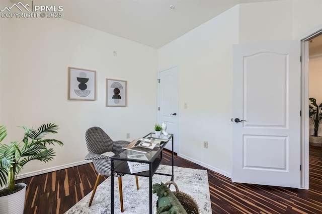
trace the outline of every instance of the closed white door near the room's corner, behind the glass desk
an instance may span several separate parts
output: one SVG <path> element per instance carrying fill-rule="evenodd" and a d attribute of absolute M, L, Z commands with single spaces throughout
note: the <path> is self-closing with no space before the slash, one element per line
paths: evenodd
<path fill-rule="evenodd" d="M 177 66 L 158 72 L 157 121 L 167 122 L 167 132 L 174 134 L 174 152 L 179 153 L 179 69 Z M 172 142 L 166 145 L 172 151 Z"/>

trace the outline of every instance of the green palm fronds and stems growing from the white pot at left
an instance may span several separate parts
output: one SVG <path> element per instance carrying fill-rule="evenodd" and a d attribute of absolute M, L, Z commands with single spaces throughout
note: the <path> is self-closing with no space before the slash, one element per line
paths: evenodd
<path fill-rule="evenodd" d="M 22 128 L 25 130 L 25 135 L 20 142 L 11 142 L 9 145 L 0 144 L 0 186 L 8 184 L 10 191 L 14 190 L 17 175 L 26 163 L 32 160 L 47 163 L 55 156 L 54 150 L 48 149 L 47 146 L 63 145 L 57 139 L 43 139 L 48 133 L 57 133 L 58 125 L 54 123 L 42 124 L 37 129 L 26 126 L 22 126 Z M 0 125 L 0 142 L 6 136 L 6 127 Z"/>

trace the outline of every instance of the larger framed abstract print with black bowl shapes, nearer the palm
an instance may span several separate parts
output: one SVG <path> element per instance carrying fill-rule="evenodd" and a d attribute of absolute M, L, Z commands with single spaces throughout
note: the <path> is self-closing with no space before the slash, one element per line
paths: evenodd
<path fill-rule="evenodd" d="M 68 67 L 68 100 L 96 100 L 96 71 Z"/>

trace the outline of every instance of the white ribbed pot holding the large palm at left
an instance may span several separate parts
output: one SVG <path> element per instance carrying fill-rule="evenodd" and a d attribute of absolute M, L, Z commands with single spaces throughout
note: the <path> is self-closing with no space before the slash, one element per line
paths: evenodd
<path fill-rule="evenodd" d="M 19 183 L 24 188 L 14 194 L 0 197 L 0 213 L 1 214 L 23 214 L 25 206 L 25 196 L 27 184 Z"/>

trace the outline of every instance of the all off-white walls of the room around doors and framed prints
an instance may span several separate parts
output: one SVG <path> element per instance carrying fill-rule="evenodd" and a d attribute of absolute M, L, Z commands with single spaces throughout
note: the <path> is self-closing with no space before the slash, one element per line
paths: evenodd
<path fill-rule="evenodd" d="M 12 140 L 21 135 L 19 125 L 56 122 L 61 127 L 54 136 L 65 146 L 55 148 L 55 160 L 35 162 L 24 172 L 82 161 L 87 153 L 84 132 L 92 125 L 102 126 L 114 139 L 124 139 L 126 132 L 133 139 L 152 130 L 156 82 L 143 85 L 141 80 L 155 80 L 156 70 L 178 64 L 179 153 L 230 176 L 232 45 L 298 39 L 320 26 L 321 16 L 321 0 L 243 4 L 157 54 L 153 48 L 60 19 L 15 19 L 5 25 L 1 20 L 1 123 L 8 125 Z M 97 101 L 67 100 L 68 66 L 97 70 Z M 128 107 L 105 107 L 105 78 L 128 81 Z"/>

